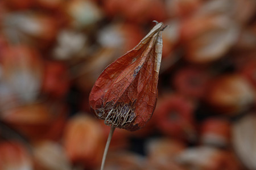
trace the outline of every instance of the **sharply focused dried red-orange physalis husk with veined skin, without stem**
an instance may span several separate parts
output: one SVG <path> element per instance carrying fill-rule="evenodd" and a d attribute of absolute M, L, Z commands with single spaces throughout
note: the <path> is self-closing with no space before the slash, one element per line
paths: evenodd
<path fill-rule="evenodd" d="M 158 94 L 163 23 L 158 23 L 134 49 L 110 64 L 96 80 L 89 104 L 105 124 L 130 131 L 151 118 Z"/>

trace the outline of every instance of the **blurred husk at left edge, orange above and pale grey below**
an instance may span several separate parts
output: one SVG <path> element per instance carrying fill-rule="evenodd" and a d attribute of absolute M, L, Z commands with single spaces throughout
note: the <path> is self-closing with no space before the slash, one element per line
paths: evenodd
<path fill-rule="evenodd" d="M 3 80 L 22 101 L 34 101 L 39 94 L 42 79 L 42 59 L 34 48 L 13 45 L 3 48 Z"/>

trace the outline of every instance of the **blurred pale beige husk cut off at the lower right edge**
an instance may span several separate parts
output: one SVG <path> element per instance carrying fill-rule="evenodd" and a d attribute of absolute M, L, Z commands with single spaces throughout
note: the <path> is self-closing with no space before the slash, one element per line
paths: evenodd
<path fill-rule="evenodd" d="M 249 169 L 256 169 L 256 115 L 249 114 L 233 126 L 233 145 L 238 157 Z"/>

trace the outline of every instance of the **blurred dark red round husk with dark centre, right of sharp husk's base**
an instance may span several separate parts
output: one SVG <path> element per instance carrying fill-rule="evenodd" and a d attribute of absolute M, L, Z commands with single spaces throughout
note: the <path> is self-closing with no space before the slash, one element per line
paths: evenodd
<path fill-rule="evenodd" d="M 194 137 L 193 104 L 185 97 L 177 94 L 163 97 L 154 115 L 156 126 L 163 134 L 180 139 Z"/>

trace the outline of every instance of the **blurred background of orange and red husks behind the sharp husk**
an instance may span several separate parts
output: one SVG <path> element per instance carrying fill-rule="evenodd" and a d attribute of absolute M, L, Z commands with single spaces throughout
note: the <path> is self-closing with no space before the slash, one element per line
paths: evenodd
<path fill-rule="evenodd" d="M 255 0 L 0 1 L 0 169 L 99 169 L 89 92 L 155 25 L 159 96 L 116 129 L 105 169 L 256 169 Z"/>

